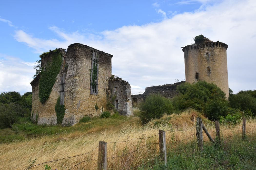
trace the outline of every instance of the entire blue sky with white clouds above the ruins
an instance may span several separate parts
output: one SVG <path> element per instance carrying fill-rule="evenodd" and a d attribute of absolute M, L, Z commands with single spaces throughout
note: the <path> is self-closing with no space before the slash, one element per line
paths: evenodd
<path fill-rule="evenodd" d="M 112 74 L 141 94 L 185 80 L 181 47 L 200 34 L 228 45 L 234 93 L 256 89 L 255 0 L 3 1 L 0 92 L 32 91 L 40 54 L 81 43 L 112 54 Z"/>

